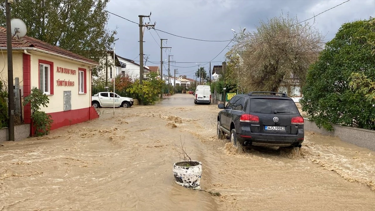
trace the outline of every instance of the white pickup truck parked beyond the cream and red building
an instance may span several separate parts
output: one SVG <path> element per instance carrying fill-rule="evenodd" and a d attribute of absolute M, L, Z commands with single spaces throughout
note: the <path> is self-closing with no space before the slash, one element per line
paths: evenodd
<path fill-rule="evenodd" d="M 133 98 L 121 97 L 114 93 L 116 107 L 130 108 L 134 104 Z M 91 97 L 91 104 L 95 108 L 113 107 L 113 92 L 99 92 Z"/>

